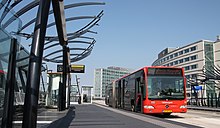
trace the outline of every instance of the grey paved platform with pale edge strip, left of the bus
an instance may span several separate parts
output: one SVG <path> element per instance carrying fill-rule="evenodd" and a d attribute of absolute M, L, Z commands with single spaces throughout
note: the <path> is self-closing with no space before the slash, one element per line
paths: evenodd
<path fill-rule="evenodd" d="M 69 110 L 53 114 L 43 113 L 48 122 L 40 123 L 43 118 L 38 118 L 38 128 L 199 128 L 97 103 L 73 105 Z"/>

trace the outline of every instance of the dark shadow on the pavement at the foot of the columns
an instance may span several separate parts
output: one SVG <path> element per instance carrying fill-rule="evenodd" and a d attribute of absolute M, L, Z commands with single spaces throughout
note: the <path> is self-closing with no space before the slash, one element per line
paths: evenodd
<path fill-rule="evenodd" d="M 74 118 L 75 107 L 71 106 L 64 117 L 49 124 L 46 128 L 68 128 Z"/>

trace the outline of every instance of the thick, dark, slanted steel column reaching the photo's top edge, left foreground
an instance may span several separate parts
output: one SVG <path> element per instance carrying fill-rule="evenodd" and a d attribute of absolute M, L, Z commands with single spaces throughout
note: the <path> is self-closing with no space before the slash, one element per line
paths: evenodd
<path fill-rule="evenodd" d="M 50 3 L 51 0 L 40 0 L 37 12 L 28 67 L 23 128 L 36 128 L 41 65 Z"/>

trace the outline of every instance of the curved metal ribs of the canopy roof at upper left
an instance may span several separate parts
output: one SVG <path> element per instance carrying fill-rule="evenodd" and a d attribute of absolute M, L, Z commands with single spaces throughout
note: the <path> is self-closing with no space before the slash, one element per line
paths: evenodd
<path fill-rule="evenodd" d="M 23 0 L 17 0 L 17 1 L 14 1 L 10 5 L 11 0 L 2 0 L 2 2 L 0 3 L 0 9 L 2 9 L 2 7 L 7 4 L 5 10 L 2 13 L 1 19 L 0 19 L 0 24 L 1 24 L 2 28 L 7 28 L 8 25 L 10 25 L 13 21 L 16 20 L 16 18 L 19 18 L 20 16 L 33 10 L 35 7 L 37 7 L 39 5 L 39 2 L 40 2 L 40 0 L 33 0 L 33 1 L 29 2 L 28 4 L 26 4 L 26 6 L 24 6 L 20 10 L 18 10 L 14 14 L 14 16 L 10 17 L 8 20 L 6 20 L 4 23 L 2 23 L 4 18 L 7 15 L 7 13 L 10 10 L 12 10 L 16 5 L 18 5 L 19 3 L 22 3 L 22 1 Z M 103 2 L 71 3 L 68 5 L 65 5 L 64 9 L 66 10 L 66 9 L 70 9 L 70 8 L 75 8 L 75 7 L 80 7 L 80 6 L 88 6 L 88 5 L 105 5 L 105 3 L 103 3 Z M 53 10 L 49 11 L 49 15 L 50 14 L 53 14 Z M 66 22 L 80 20 L 80 19 L 92 19 L 90 22 L 88 22 L 85 26 L 83 26 L 79 30 L 76 30 L 75 32 L 72 32 L 72 33 L 67 33 L 68 43 L 70 43 L 70 44 L 76 43 L 76 44 L 84 44 L 84 45 L 88 44 L 86 47 L 82 47 L 82 48 L 81 47 L 73 47 L 73 48 L 70 47 L 69 48 L 71 62 L 76 62 L 76 61 L 82 60 L 91 54 L 94 43 L 96 41 L 92 37 L 87 37 L 87 36 L 82 36 L 82 35 L 85 35 L 86 33 L 97 34 L 97 32 L 93 32 L 90 29 L 92 29 L 95 25 L 97 25 L 97 23 L 100 21 L 102 16 L 103 16 L 103 10 L 96 16 L 77 16 L 77 17 L 66 18 Z M 33 23 L 35 23 L 35 21 L 36 21 L 36 18 L 31 19 L 26 24 L 21 26 L 21 28 L 17 32 L 13 32 L 13 34 L 18 35 L 20 37 L 24 37 L 27 40 L 32 39 L 33 38 L 32 32 L 24 33 L 23 31 L 26 30 L 27 28 L 29 28 Z M 56 25 L 55 22 L 49 23 L 47 25 L 47 28 L 50 28 L 55 25 Z M 81 40 L 76 40 L 76 39 L 81 39 Z M 91 41 L 88 41 L 88 39 Z M 47 42 L 45 42 L 45 48 L 44 48 L 45 51 L 50 51 L 50 48 L 54 48 L 59 45 L 58 36 L 46 36 L 45 40 L 47 41 Z M 45 55 L 43 57 L 43 60 L 49 61 L 49 62 L 54 62 L 54 63 L 62 63 L 62 56 L 60 56 L 60 55 L 56 56 L 56 54 L 59 52 L 62 52 L 62 50 L 56 50 L 56 51 L 51 50 L 51 51 L 53 51 L 53 52 L 50 52 L 47 55 Z M 71 51 L 80 51 L 80 52 L 71 54 Z M 53 58 L 51 58 L 52 56 L 53 56 Z"/>

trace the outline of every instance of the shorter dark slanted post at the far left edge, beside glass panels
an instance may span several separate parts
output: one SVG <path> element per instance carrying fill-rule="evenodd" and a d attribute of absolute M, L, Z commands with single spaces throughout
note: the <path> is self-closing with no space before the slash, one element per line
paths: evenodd
<path fill-rule="evenodd" d="M 14 86 L 16 69 L 17 40 L 12 39 L 9 55 L 8 74 L 5 87 L 4 111 L 2 117 L 2 128 L 12 128 L 14 112 Z"/>

